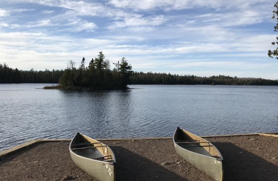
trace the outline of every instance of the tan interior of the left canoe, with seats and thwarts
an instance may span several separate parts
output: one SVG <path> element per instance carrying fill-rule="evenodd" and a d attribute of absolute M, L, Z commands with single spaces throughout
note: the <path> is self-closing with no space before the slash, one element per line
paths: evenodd
<path fill-rule="evenodd" d="M 77 133 L 72 139 L 70 149 L 75 154 L 85 158 L 111 164 L 116 162 L 114 153 L 108 146 L 80 133 Z"/>

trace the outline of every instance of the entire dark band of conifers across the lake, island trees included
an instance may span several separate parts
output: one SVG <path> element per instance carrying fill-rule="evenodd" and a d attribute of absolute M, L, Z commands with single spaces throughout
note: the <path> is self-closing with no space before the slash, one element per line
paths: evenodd
<path fill-rule="evenodd" d="M 90 87 L 99 86 L 103 88 L 120 88 L 126 84 L 164 84 L 164 85 L 278 85 L 278 80 L 263 78 L 239 78 L 225 75 L 201 77 L 195 75 L 176 75 L 170 73 L 156 72 L 132 72 L 131 67 L 123 79 L 124 69 L 120 70 L 120 61 L 115 64 L 116 68 L 110 70 L 110 62 L 103 60 L 103 64 L 96 66 L 97 58 L 90 61 L 88 67 L 82 64 L 79 68 L 74 67 L 74 62 L 65 70 L 18 70 L 8 67 L 5 63 L 0 64 L 0 83 L 62 83 L 65 86 Z M 125 60 L 125 59 L 124 59 Z M 93 65 L 94 64 L 94 65 Z M 130 66 L 127 61 L 125 66 Z M 90 70 L 91 69 L 91 70 Z M 64 76 L 63 76 L 64 75 Z M 94 77 L 94 79 L 92 79 Z M 105 79 L 103 79 L 105 77 Z M 129 77 L 129 78 L 128 78 Z M 103 83 L 101 83 L 103 82 Z"/>

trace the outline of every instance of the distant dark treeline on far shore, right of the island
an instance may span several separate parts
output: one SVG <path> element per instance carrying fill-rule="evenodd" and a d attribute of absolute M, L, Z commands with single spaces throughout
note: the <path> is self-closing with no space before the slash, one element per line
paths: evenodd
<path fill-rule="evenodd" d="M 200 77 L 194 75 L 176 75 L 170 73 L 133 72 L 130 84 L 182 84 L 182 85 L 278 85 L 278 80 L 263 78 L 238 78 L 225 75 Z"/>

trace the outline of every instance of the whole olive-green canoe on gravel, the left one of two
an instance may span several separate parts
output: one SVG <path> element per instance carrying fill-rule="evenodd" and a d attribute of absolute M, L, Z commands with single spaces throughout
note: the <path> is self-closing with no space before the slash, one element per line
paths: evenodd
<path fill-rule="evenodd" d="M 107 145 L 77 133 L 70 142 L 72 161 L 99 181 L 115 181 L 115 155 Z"/>

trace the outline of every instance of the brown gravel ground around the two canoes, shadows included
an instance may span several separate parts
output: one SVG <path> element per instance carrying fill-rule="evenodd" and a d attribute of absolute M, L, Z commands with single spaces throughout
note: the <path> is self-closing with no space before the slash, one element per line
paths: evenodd
<path fill-rule="evenodd" d="M 278 181 L 278 137 L 207 138 L 224 157 L 225 181 Z M 172 139 L 102 141 L 118 181 L 212 181 L 176 154 Z M 0 159 L 0 181 L 95 181 L 70 158 L 69 141 L 31 145 Z"/>

